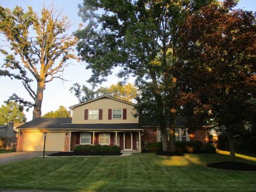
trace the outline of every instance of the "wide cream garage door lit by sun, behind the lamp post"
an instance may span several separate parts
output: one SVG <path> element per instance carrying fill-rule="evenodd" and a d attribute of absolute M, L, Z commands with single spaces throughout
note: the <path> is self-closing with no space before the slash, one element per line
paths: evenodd
<path fill-rule="evenodd" d="M 23 151 L 43 151 L 44 133 L 42 132 L 23 132 Z M 46 151 L 63 151 L 65 133 L 48 132 L 45 140 Z"/>

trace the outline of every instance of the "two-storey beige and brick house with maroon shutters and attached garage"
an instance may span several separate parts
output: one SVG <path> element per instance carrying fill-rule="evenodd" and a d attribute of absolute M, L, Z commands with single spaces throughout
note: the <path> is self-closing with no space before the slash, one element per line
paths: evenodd
<path fill-rule="evenodd" d="M 140 126 L 134 117 L 134 104 L 103 95 L 71 106 L 72 118 L 37 118 L 18 127 L 17 150 L 43 150 L 46 132 L 47 151 L 71 151 L 76 145 L 117 145 L 122 151 L 141 152 L 146 143 L 161 141 L 157 127 Z M 188 136 L 182 125 L 177 127 L 181 141 L 200 138 L 205 130 Z"/>

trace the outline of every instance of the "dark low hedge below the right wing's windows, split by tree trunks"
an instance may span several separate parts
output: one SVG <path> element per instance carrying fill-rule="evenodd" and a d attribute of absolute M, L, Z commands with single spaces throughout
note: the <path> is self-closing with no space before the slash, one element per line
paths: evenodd
<path fill-rule="evenodd" d="M 204 143 L 202 141 L 178 141 L 175 142 L 177 151 L 184 153 L 215 153 L 216 148 L 211 143 Z M 147 149 L 151 152 L 163 150 L 162 142 L 148 143 Z"/>

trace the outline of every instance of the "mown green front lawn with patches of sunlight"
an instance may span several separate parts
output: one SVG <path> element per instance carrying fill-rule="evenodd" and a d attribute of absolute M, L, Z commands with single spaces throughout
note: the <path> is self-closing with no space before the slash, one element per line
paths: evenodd
<path fill-rule="evenodd" d="M 237 157 L 256 165 L 256 160 Z M 256 172 L 205 165 L 223 154 L 48 157 L 0 165 L 0 189 L 60 191 L 255 191 Z"/>

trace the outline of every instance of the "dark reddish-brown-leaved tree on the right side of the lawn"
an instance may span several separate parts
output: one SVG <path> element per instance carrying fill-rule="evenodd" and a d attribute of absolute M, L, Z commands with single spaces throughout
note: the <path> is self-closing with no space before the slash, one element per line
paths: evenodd
<path fill-rule="evenodd" d="M 231 158 L 234 135 L 255 121 L 255 14 L 235 10 L 236 1 L 202 7 L 180 30 L 175 77 L 183 112 L 197 122 L 225 126 Z"/>

